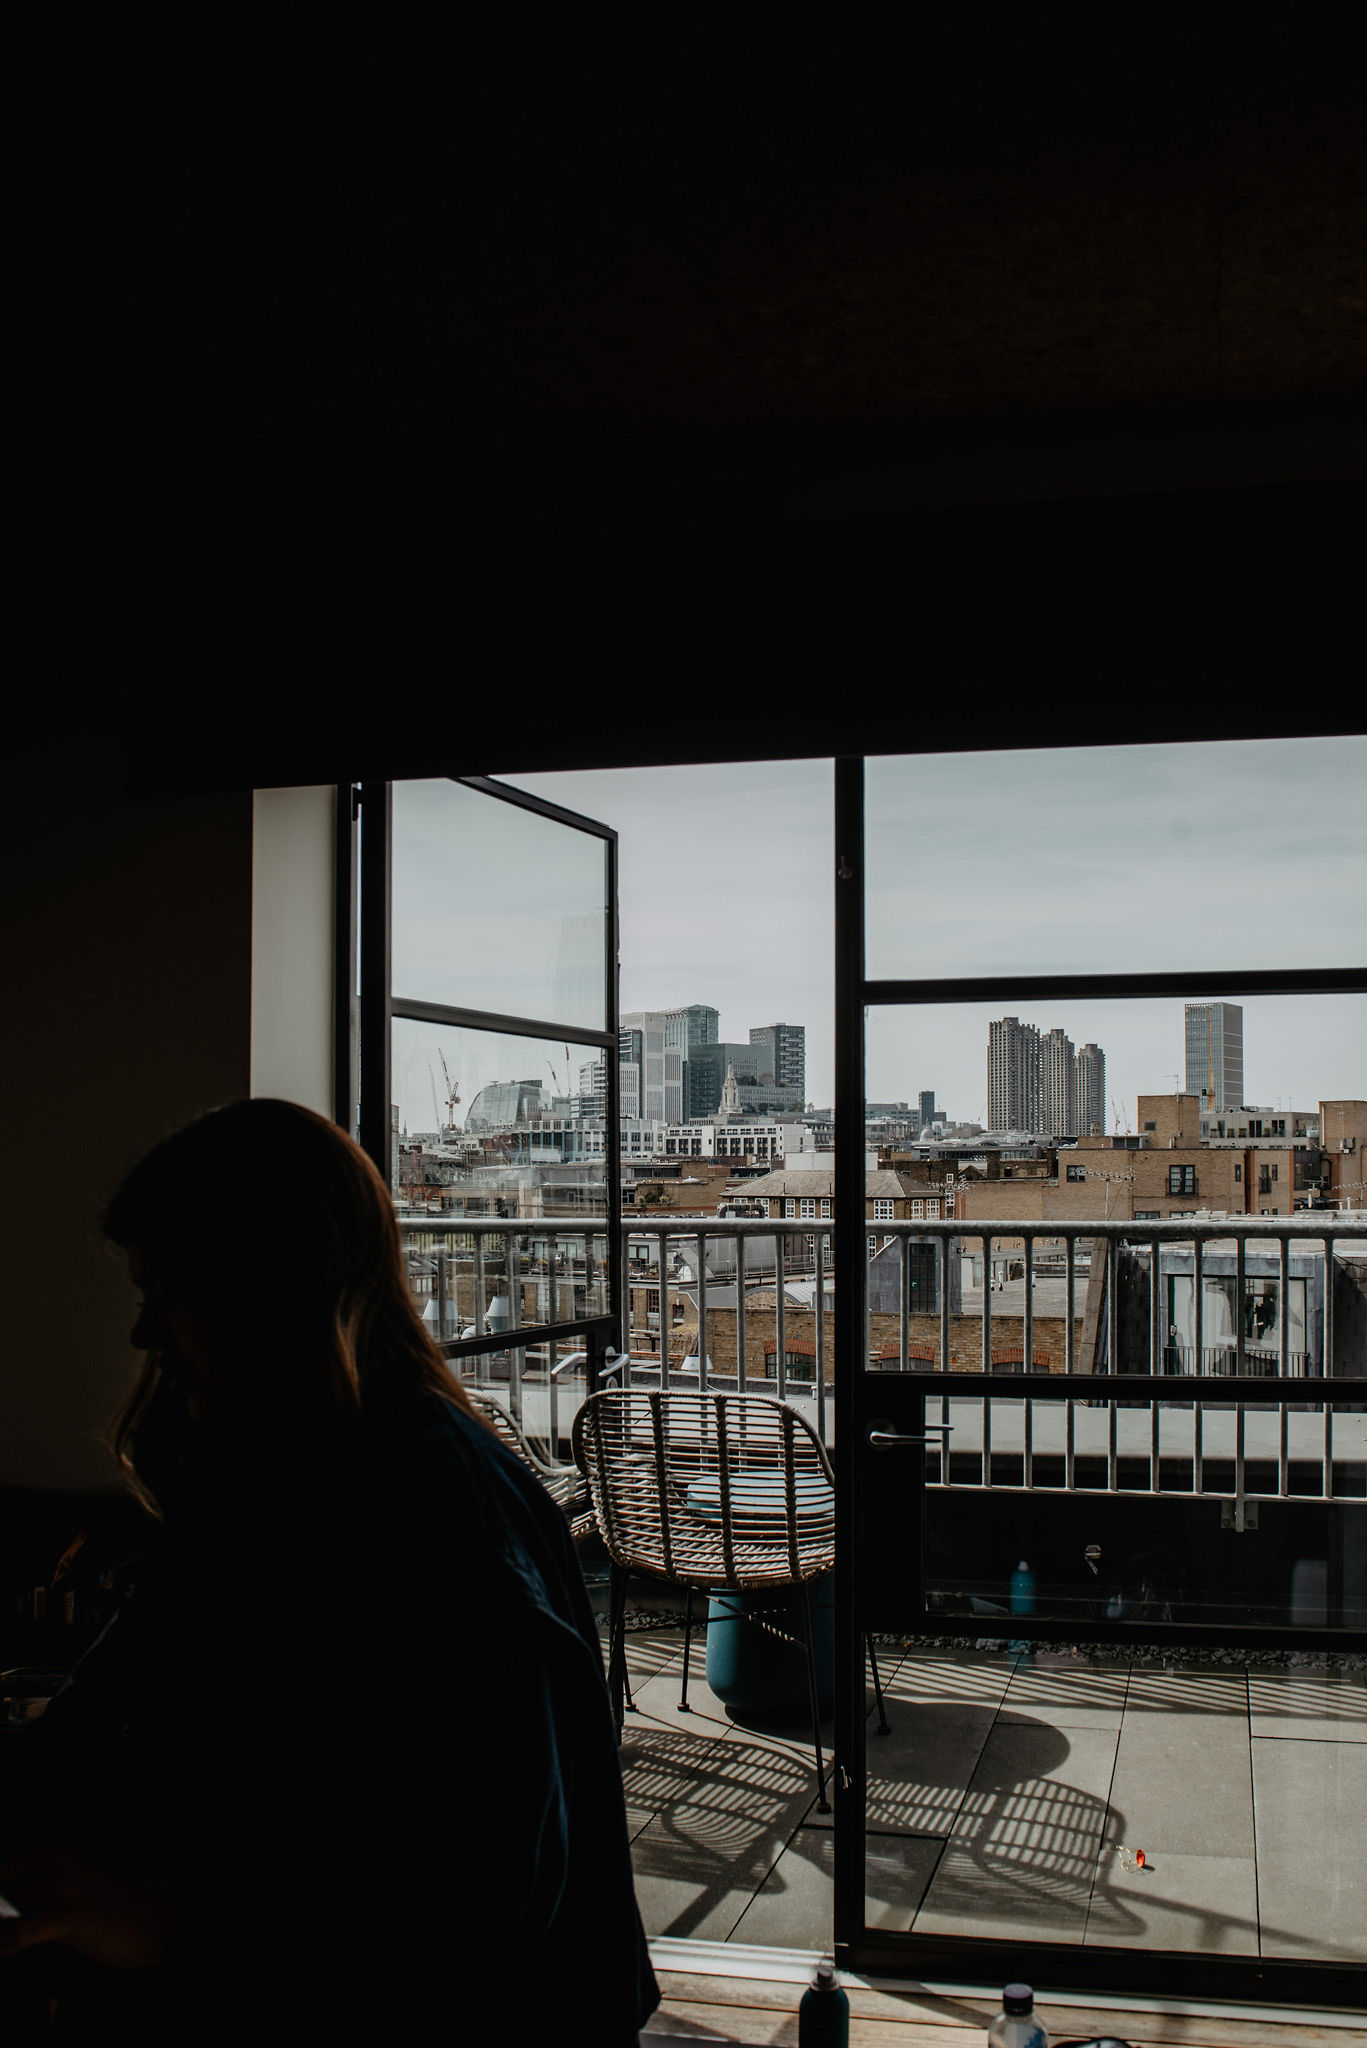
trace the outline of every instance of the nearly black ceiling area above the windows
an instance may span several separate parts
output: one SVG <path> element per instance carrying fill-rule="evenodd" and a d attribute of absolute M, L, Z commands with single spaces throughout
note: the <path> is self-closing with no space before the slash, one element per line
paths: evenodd
<path fill-rule="evenodd" d="M 1160 729 L 1342 723 L 1256 698 L 1353 578 L 1361 8 L 457 20 L 25 31 L 37 668 L 172 766 L 193 676 L 230 780 L 994 743 L 1154 659 L 1226 690 Z"/>

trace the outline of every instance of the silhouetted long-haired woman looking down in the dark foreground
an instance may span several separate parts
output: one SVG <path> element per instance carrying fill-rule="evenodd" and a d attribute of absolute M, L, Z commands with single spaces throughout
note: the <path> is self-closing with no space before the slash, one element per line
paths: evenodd
<path fill-rule="evenodd" d="M 658 1991 L 584 1579 L 426 1335 L 379 1174 L 238 1102 L 105 1227 L 152 1540 L 0 1759 L 0 1950 L 51 1956 L 53 2032 L 635 2040 Z"/>

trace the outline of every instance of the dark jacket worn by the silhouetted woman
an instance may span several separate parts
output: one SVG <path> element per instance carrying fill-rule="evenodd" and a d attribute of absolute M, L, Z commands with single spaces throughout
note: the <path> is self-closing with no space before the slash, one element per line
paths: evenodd
<path fill-rule="evenodd" d="M 617 2044 L 658 2005 L 570 1532 L 434 1395 L 230 1536 L 168 1526 L 6 1765 L 20 1837 L 174 1872 L 166 1966 L 57 1958 L 72 2040 Z"/>

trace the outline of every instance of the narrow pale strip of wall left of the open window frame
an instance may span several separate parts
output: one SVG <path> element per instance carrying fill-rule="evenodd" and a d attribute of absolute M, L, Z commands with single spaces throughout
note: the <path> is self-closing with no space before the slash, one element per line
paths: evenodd
<path fill-rule="evenodd" d="M 332 1116 L 336 786 L 252 801 L 252 1094 Z"/>

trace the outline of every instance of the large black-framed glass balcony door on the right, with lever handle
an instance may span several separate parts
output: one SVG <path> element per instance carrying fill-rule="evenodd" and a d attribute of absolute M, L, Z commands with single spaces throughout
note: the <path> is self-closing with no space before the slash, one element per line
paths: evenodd
<path fill-rule="evenodd" d="M 1340 764 L 1349 780 L 1361 774 L 1357 745 Z M 1295 741 L 1281 758 L 1287 799 L 1306 748 L 1316 752 Z M 1332 748 L 1318 748 L 1316 772 L 1334 774 Z M 963 1020 L 980 1006 L 988 1073 L 955 1116 L 996 1126 L 998 1141 L 1008 1124 L 1037 1133 L 1053 1116 L 1062 1133 L 1068 1118 L 1076 1139 L 1078 1098 L 1064 1081 L 1045 1108 L 1045 1051 L 1031 1098 L 1029 1075 L 1010 1071 L 1012 1049 L 1000 1049 L 1012 1110 L 990 1112 L 988 1016 L 1019 1024 L 1027 1004 L 1047 1001 L 1068 1026 L 1070 1006 L 1101 1001 L 1162 999 L 1180 1018 L 1180 1004 L 1316 997 L 1328 1008 L 1367 991 L 1359 811 L 1324 864 L 1314 811 L 1291 805 L 1277 838 L 1279 893 L 1306 907 L 1281 926 L 1285 956 L 1271 954 L 1240 913 L 1267 852 L 1240 838 L 1267 829 L 1240 776 L 1267 786 L 1277 764 L 1135 752 L 1146 754 L 1150 825 L 1183 788 L 1211 797 L 1209 848 L 1197 811 L 1178 803 L 1183 874 L 1164 866 L 1172 831 L 1129 838 L 1123 858 L 1107 842 L 1107 805 L 1119 815 L 1135 801 L 1135 786 L 1117 780 L 1125 764 L 1072 752 L 1064 786 L 1017 756 L 1025 838 L 986 793 L 990 756 L 971 760 L 951 803 L 953 834 L 939 829 L 926 791 L 937 774 L 953 788 L 959 764 L 867 764 L 867 809 L 865 762 L 836 764 L 836 1946 L 851 1968 L 920 1980 L 1025 1976 L 1230 1999 L 1246 1999 L 1254 1980 L 1260 1999 L 1355 2007 L 1367 1985 L 1363 1919 L 1349 1898 L 1367 1823 L 1367 1694 L 1361 1677 L 1330 1686 L 1324 1671 L 1277 1673 L 1254 1655 L 1269 1645 L 1361 1655 L 1367 1645 L 1365 1382 L 1342 1317 L 1334 1331 L 1344 1296 L 1332 1233 L 1322 1249 L 1314 1241 L 1324 1219 L 1291 1214 L 1291 1196 L 1285 1214 L 1271 1214 L 1258 1194 L 1271 1171 L 1244 1202 L 1232 1153 L 1203 1153 L 1178 1188 L 1160 1178 L 1146 1196 L 1148 1155 L 1144 1167 L 1135 1157 L 1150 1141 L 1115 1135 L 1107 1100 L 1094 1147 L 1060 1151 L 1076 1180 L 1055 1167 L 1049 1214 L 1076 1198 L 1072 1223 L 1049 1233 L 1027 1145 L 1012 1159 L 998 1143 L 988 1182 L 986 1157 L 978 1180 L 963 1155 L 949 1163 L 943 1135 L 941 1214 L 928 1221 L 926 1188 L 918 1229 L 908 1198 L 908 1221 L 885 1225 L 894 1243 L 871 1257 L 867 1102 L 937 1081 L 908 1071 L 889 1083 L 873 1065 L 879 1034 L 910 1063 L 930 1012 L 953 1006 Z M 1232 799 L 1219 786 L 1226 768 Z M 1070 831 L 1080 834 L 1072 844 Z M 1164 954 L 1164 920 L 1148 913 L 1209 903 L 1211 891 L 1219 918 L 1197 934 L 1174 913 Z M 1260 965 L 1269 958 L 1283 965 Z M 1043 961 L 1058 973 L 1041 973 Z M 1357 1020 L 1361 1055 L 1361 1001 Z M 1064 1067 L 1074 1055 L 1076 1075 L 1076 1047 L 1062 1028 L 1049 1036 Z M 1166 1085 L 1180 1090 L 1180 1077 Z M 1193 1114 L 1215 1108 L 1197 1090 Z M 1123 1122 L 1133 1100 L 1127 1110 Z M 1152 1151 L 1162 1143 L 1168 1159 L 1183 1157 L 1180 1137 L 1154 1130 Z M 933 1159 L 935 1145 L 920 1147 L 920 1163 Z M 1191 1174 L 1209 1184 L 1189 1190 Z M 1342 1214 L 1334 1229 L 1359 1235 Z M 1058 1311 L 1049 1290 L 1072 1288 Z M 1312 1462 L 1316 1497 L 1299 1499 L 1297 1473 Z M 1328 1552 L 1318 1579 L 1316 1538 L 1267 1597 L 1256 1571 L 1240 1593 L 1221 1561 L 1252 1563 L 1258 1509 L 1265 1530 L 1316 1526 Z M 1185 1602 L 1172 1599 L 1164 1546 L 1189 1573 Z M 1117 1585 L 1117 1556 L 1148 1559 L 1148 1577 Z M 887 1665 L 887 1737 L 869 1712 L 867 1630 Z"/>

